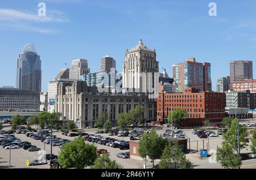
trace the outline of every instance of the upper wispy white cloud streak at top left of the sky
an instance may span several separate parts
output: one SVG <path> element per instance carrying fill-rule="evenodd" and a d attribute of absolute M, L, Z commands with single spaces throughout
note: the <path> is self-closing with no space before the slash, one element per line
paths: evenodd
<path fill-rule="evenodd" d="M 68 22 L 68 18 L 60 11 L 47 10 L 46 16 L 38 16 L 28 12 L 17 11 L 14 9 L 0 8 L 0 20 L 16 22 L 16 21 L 32 21 L 32 22 Z"/>

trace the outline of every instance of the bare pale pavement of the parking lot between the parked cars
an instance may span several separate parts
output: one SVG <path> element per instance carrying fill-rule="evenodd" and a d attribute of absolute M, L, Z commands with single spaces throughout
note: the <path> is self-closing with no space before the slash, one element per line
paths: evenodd
<path fill-rule="evenodd" d="M 7 129 L 10 129 L 10 127 L 5 127 L 5 130 L 7 130 Z M 167 129 L 170 129 L 170 128 L 164 127 L 162 130 L 156 130 L 156 132 L 158 132 L 159 134 L 163 134 Z M 88 134 L 95 134 L 94 133 L 95 130 L 96 129 L 90 129 L 90 130 L 84 130 L 84 131 L 87 132 Z M 200 139 L 197 137 L 197 135 L 192 134 L 192 132 L 191 132 L 192 129 L 183 129 L 182 131 L 187 136 L 187 138 L 190 139 L 190 143 L 188 140 L 188 149 L 190 147 L 193 150 L 198 149 L 200 151 L 200 149 L 203 149 L 203 142 L 204 142 L 205 149 L 207 148 L 207 143 L 209 143 L 209 147 L 210 147 L 209 149 L 216 150 L 217 146 L 220 146 L 221 142 L 223 141 L 221 135 L 216 138 Z M 212 131 L 217 132 L 217 130 L 212 130 Z M 44 149 L 44 145 L 45 145 L 47 154 L 49 154 L 51 151 L 51 149 L 50 149 L 51 146 L 49 144 L 45 144 L 45 143 L 41 142 L 40 140 L 35 140 L 32 138 L 29 138 L 24 134 L 14 134 L 14 135 L 16 138 L 19 138 L 22 141 L 31 142 L 32 145 L 36 145 L 36 147 L 39 147 L 42 150 Z M 68 139 L 68 140 L 75 139 L 75 137 L 62 135 L 61 132 L 53 132 L 53 135 L 56 135 L 57 138 L 62 138 L 62 139 Z M 95 135 L 101 135 L 106 138 L 114 138 L 114 139 L 125 140 L 125 141 L 130 140 L 129 136 L 119 137 L 117 135 L 109 136 L 109 134 L 95 134 Z M 251 134 L 250 134 L 250 136 L 251 136 Z M 123 159 L 123 158 L 118 158 L 116 156 L 117 153 L 127 152 L 127 151 L 129 151 L 129 149 L 120 150 L 119 148 L 113 148 L 113 147 L 109 147 L 106 145 L 91 143 L 88 141 L 86 141 L 86 143 L 94 144 L 99 149 L 106 149 L 110 155 L 110 158 L 112 160 L 117 161 L 119 164 L 123 165 L 123 168 L 127 168 L 127 169 L 130 169 L 130 168 L 142 169 L 143 168 L 144 161 L 134 160 L 134 159 L 130 159 L 130 158 Z M 52 147 L 52 153 L 54 155 L 58 155 L 59 152 L 60 152 L 60 148 L 58 146 Z M 250 152 L 250 148 L 242 149 L 241 153 L 243 153 L 243 152 Z M 9 168 L 9 155 L 10 155 L 10 151 L 2 148 L 0 146 L 0 168 Z M 32 161 L 32 160 L 38 159 L 39 157 L 42 157 L 42 156 L 43 156 L 43 151 L 28 152 L 27 150 L 24 150 L 23 148 L 11 149 L 11 168 L 44 168 L 44 169 L 49 168 L 48 164 L 36 165 L 36 166 L 27 166 L 26 165 L 27 159 Z M 200 162 L 202 161 L 199 159 L 199 153 L 195 152 L 193 155 L 187 155 L 187 156 L 190 158 L 190 160 L 194 164 L 200 164 Z M 207 163 L 208 162 L 205 161 L 206 165 L 207 165 Z M 148 161 L 147 166 L 151 166 L 151 165 L 152 165 L 151 162 Z"/>

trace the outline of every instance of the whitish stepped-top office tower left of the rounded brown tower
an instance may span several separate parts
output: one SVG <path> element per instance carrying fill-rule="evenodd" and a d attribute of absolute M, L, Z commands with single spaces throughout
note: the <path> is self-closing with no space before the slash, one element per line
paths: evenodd
<path fill-rule="evenodd" d="M 90 72 L 88 62 L 86 59 L 75 59 L 71 63 L 71 70 L 69 70 L 69 79 L 79 80 L 79 76 L 87 75 Z"/>

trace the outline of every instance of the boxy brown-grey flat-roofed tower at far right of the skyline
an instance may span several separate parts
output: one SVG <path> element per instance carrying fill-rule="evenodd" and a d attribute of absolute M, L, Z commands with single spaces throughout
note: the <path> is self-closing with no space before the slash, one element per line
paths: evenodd
<path fill-rule="evenodd" d="M 253 62 L 230 61 L 230 83 L 245 79 L 253 79 Z"/>

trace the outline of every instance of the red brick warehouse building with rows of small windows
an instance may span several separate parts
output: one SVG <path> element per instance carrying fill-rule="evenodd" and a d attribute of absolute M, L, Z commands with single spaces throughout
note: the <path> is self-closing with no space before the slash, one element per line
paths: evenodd
<path fill-rule="evenodd" d="M 201 126 L 205 119 L 220 122 L 225 117 L 225 93 L 199 92 L 186 88 L 184 93 L 159 93 L 157 100 L 157 120 L 167 121 L 172 109 L 187 110 L 188 117 L 179 126 Z"/>

